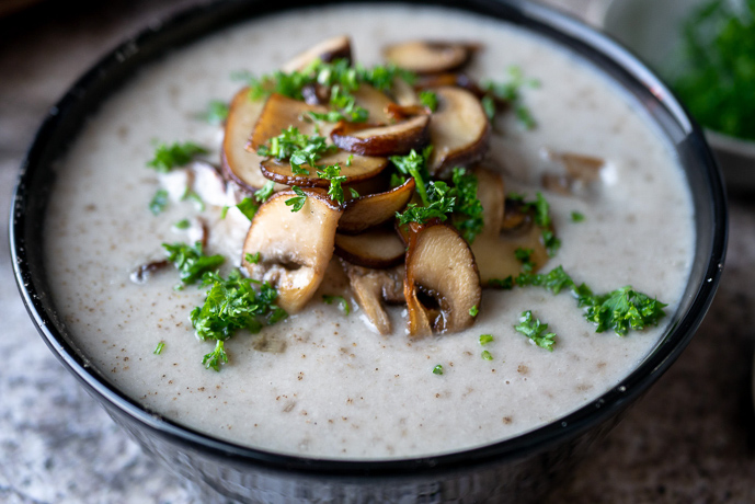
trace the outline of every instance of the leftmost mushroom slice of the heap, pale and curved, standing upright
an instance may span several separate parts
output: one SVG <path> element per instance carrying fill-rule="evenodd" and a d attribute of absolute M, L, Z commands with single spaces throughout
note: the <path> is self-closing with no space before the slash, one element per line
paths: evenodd
<path fill-rule="evenodd" d="M 258 156 L 256 151 L 247 150 L 249 135 L 264 105 L 264 101 L 251 100 L 249 88 L 243 88 L 236 93 L 228 108 L 226 135 L 222 139 L 222 173 L 248 192 L 259 190 L 267 182 L 260 171 L 260 162 L 264 158 Z M 276 191 L 283 188 L 279 186 Z"/>

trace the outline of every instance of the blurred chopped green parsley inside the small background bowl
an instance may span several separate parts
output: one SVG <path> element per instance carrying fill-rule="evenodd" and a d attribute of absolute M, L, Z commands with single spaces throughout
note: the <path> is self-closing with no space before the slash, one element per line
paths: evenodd
<path fill-rule="evenodd" d="M 674 91 L 703 126 L 755 140 L 755 1 L 706 2 L 682 36 Z"/>

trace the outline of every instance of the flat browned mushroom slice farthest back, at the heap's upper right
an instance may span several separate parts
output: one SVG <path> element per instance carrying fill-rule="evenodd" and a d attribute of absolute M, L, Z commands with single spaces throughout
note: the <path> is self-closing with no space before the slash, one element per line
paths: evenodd
<path fill-rule="evenodd" d="M 398 67 L 417 73 L 451 71 L 469 60 L 469 44 L 411 41 L 393 44 L 382 51 L 386 59 Z"/>

